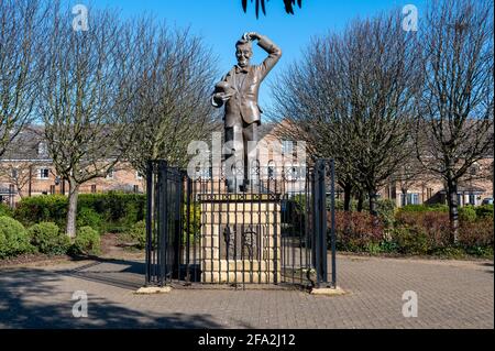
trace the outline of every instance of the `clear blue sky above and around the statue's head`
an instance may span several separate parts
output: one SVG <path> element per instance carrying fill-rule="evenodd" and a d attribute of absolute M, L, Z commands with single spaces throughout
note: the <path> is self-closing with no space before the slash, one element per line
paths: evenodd
<path fill-rule="evenodd" d="M 85 2 L 70 1 L 74 4 Z M 218 56 L 220 76 L 235 63 L 234 43 L 243 32 L 254 31 L 270 36 L 284 53 L 260 90 L 261 105 L 270 108 L 271 81 L 290 63 L 304 58 L 301 51 L 311 36 L 341 31 L 356 17 L 372 17 L 408 3 L 419 9 L 420 20 L 425 0 L 302 0 L 302 9 L 296 8 L 295 15 L 285 13 L 282 0 L 268 0 L 267 15 L 260 13 L 258 20 L 254 3 L 249 2 L 248 13 L 244 13 L 241 0 L 96 0 L 92 3 L 101 8 L 118 8 L 123 17 L 148 13 L 170 25 L 190 26 L 191 32 L 202 36 L 205 44 Z M 263 51 L 255 46 L 253 62 L 258 63 L 264 56 Z"/>

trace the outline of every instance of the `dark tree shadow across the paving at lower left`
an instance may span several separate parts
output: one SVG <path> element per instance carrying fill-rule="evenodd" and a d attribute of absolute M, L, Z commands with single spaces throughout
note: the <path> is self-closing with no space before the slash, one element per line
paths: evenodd
<path fill-rule="evenodd" d="M 106 264 L 109 263 L 107 260 L 103 261 Z M 106 268 L 102 262 L 58 272 L 22 267 L 1 270 L 0 328 L 220 328 L 212 321 L 210 315 L 143 314 L 106 298 L 91 296 L 90 292 L 88 292 L 88 317 L 75 318 L 73 305 L 77 300 L 72 300 L 73 292 L 61 287 L 64 276 L 119 286 L 119 283 L 125 283 L 125 277 L 119 277 L 119 271 L 116 273 L 118 265 L 123 266 L 121 274 L 138 274 L 143 265 L 139 262 L 114 260 L 110 263 L 117 266 L 112 266 L 109 273 L 105 273 L 103 270 L 98 271 L 98 267 Z M 106 277 L 106 274 L 112 274 L 112 272 L 113 275 Z M 139 276 L 142 279 L 143 275 L 139 274 Z M 130 285 L 129 282 L 128 285 Z M 129 292 L 122 294 L 129 294 Z M 53 301 L 54 296 L 61 303 Z M 135 298 L 146 297 L 135 296 Z"/>

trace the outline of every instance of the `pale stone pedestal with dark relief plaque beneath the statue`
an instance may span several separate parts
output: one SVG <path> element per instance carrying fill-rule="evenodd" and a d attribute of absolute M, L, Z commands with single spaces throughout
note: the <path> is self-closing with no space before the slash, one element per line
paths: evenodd
<path fill-rule="evenodd" d="M 278 283 L 280 252 L 279 201 L 232 195 L 201 201 L 201 282 Z"/>

